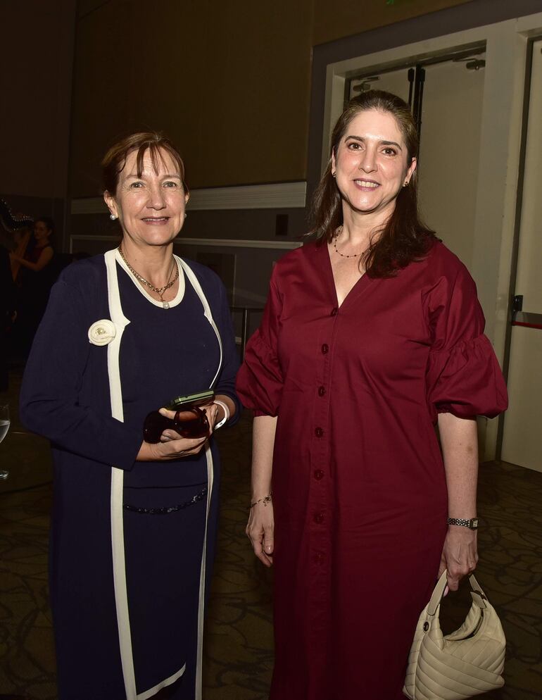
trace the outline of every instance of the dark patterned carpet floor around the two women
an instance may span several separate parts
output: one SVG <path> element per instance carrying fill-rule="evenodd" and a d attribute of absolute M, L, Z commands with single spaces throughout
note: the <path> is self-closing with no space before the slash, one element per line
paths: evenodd
<path fill-rule="evenodd" d="M 15 377 L 13 397 L 17 384 Z M 250 418 L 244 415 L 237 428 L 220 434 L 222 508 L 206 627 L 204 700 L 265 700 L 270 683 L 270 572 L 251 555 L 244 535 L 249 446 Z M 11 469 L 9 480 L 0 482 L 0 697 L 53 700 L 46 582 L 52 492 L 46 442 L 23 434 L 13 420 L 0 445 L 0 468 Z M 542 697 L 541 496 L 542 473 L 505 463 L 481 468 L 477 575 L 508 639 L 506 685 L 486 694 L 488 700 Z M 467 597 L 463 587 L 446 599 L 445 631 L 464 618 Z"/>

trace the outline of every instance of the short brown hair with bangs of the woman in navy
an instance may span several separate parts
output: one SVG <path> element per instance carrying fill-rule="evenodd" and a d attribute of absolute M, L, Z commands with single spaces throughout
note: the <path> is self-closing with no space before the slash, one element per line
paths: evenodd
<path fill-rule="evenodd" d="M 147 151 L 151 156 L 155 172 L 158 172 L 158 164 L 163 161 L 163 154 L 160 151 L 168 153 L 179 169 L 184 193 L 189 194 L 187 182 L 184 180 L 184 163 L 179 151 L 168 137 L 156 131 L 131 134 L 111 146 L 101 161 L 103 189 L 106 192 L 110 194 L 117 192 L 118 176 L 125 168 L 127 157 L 134 151 L 137 151 L 137 177 L 141 177 L 143 173 L 143 158 Z"/>

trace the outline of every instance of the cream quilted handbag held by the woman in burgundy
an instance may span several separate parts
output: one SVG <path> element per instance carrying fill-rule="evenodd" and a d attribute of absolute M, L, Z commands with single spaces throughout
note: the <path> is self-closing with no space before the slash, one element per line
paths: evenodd
<path fill-rule="evenodd" d="M 439 610 L 446 571 L 420 615 L 403 693 L 411 700 L 462 700 L 504 685 L 505 635 L 474 576 L 472 606 L 458 630 L 443 636 Z"/>

